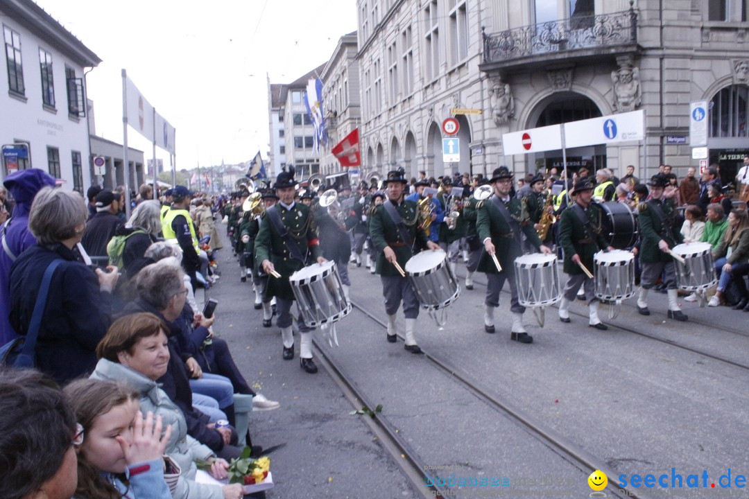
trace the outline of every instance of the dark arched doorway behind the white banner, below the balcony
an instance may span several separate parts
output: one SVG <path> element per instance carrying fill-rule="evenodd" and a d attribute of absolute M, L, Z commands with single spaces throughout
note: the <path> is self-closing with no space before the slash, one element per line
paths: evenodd
<path fill-rule="evenodd" d="M 601 110 L 588 97 L 574 92 L 560 92 L 539 102 L 539 105 L 530 115 L 527 128 L 558 125 L 601 116 L 603 116 Z M 575 147 L 566 150 L 566 154 L 567 168 L 570 171 L 577 171 L 578 168 L 583 166 L 586 166 L 591 173 L 599 168 L 606 168 L 605 144 Z M 528 155 L 527 172 L 546 172 L 550 171 L 551 168 L 557 168 L 557 171 L 561 173 L 562 168 L 564 168 L 562 150 L 550 150 Z M 515 174 L 518 174 L 518 172 L 515 172 Z"/>

